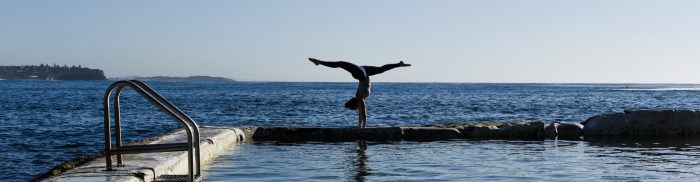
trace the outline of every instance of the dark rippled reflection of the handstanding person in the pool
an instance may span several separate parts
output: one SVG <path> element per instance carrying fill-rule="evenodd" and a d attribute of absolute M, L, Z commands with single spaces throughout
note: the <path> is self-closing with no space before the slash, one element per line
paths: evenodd
<path fill-rule="evenodd" d="M 367 141 L 359 140 L 357 141 L 357 148 L 353 149 L 352 155 L 349 156 L 350 164 L 348 178 L 358 182 L 364 182 L 365 177 L 371 175 L 371 171 L 367 167 L 367 155 L 365 151 L 367 150 Z"/>

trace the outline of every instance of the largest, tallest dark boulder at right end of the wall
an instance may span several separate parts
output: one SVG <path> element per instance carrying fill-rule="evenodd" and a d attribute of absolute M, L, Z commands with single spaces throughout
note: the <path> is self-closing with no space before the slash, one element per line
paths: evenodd
<path fill-rule="evenodd" d="M 625 110 L 582 122 L 586 137 L 675 137 L 700 134 L 700 111 Z"/>

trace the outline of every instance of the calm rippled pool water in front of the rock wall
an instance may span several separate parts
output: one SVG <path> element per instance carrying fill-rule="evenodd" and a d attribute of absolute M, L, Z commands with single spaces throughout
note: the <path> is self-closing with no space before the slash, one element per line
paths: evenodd
<path fill-rule="evenodd" d="M 698 181 L 697 141 L 241 144 L 206 181 Z"/>

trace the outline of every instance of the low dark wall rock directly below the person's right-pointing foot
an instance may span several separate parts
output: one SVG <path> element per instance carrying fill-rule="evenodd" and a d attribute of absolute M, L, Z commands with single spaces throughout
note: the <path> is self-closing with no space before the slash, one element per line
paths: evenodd
<path fill-rule="evenodd" d="M 413 141 L 449 140 L 460 135 L 455 128 L 402 127 L 401 131 L 404 140 Z"/>

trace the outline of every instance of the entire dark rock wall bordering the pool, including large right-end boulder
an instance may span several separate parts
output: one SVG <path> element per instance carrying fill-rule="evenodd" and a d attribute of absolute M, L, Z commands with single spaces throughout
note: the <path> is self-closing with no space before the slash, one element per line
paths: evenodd
<path fill-rule="evenodd" d="M 253 127 L 253 140 L 350 141 L 350 140 L 449 140 L 516 139 L 582 140 L 588 138 L 658 138 L 700 135 L 700 111 L 626 110 L 593 116 L 581 123 L 542 121 L 467 122 L 447 126 L 388 128 Z"/>

